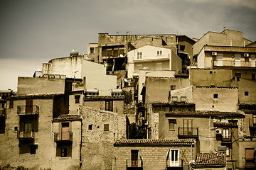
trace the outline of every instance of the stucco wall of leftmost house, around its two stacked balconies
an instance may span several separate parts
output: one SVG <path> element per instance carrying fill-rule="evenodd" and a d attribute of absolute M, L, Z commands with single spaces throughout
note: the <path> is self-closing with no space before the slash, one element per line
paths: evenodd
<path fill-rule="evenodd" d="M 6 131 L 5 134 L 0 134 L 0 166 L 11 164 L 26 168 L 50 168 L 50 120 L 53 119 L 53 99 L 33 99 L 33 104 L 39 106 L 38 132 L 35 132 L 34 140 L 38 145 L 36 154 L 19 154 L 17 132 L 14 132 L 14 126 L 18 126 L 19 130 L 17 106 L 25 104 L 26 100 L 15 99 L 14 108 L 6 109 Z M 9 106 L 9 101 L 7 105 Z"/>

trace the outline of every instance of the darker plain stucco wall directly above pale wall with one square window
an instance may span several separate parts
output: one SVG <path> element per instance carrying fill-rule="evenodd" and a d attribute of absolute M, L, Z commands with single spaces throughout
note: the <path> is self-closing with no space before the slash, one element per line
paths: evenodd
<path fill-rule="evenodd" d="M 230 86 L 232 78 L 231 69 L 191 69 L 191 84 L 194 86 Z"/>

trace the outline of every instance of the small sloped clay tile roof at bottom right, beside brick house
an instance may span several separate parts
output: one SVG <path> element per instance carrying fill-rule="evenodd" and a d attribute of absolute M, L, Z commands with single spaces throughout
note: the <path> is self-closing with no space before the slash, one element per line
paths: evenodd
<path fill-rule="evenodd" d="M 225 166 L 225 154 L 199 153 L 196 155 L 197 165 L 223 165 Z"/>

